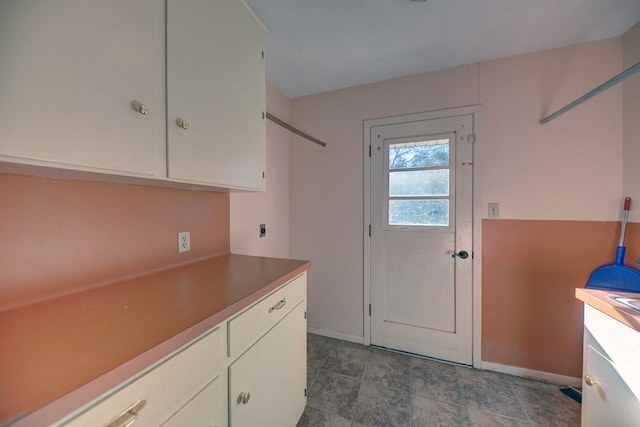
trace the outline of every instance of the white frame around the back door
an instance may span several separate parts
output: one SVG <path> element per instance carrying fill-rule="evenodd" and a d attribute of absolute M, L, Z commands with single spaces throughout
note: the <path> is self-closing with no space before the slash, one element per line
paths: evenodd
<path fill-rule="evenodd" d="M 475 142 L 473 144 L 473 258 L 472 258 L 472 363 L 475 368 L 482 368 L 482 197 L 481 197 L 481 123 L 482 108 L 480 105 L 448 108 L 444 110 L 427 111 L 423 113 L 405 114 L 400 116 L 383 117 L 365 120 L 363 123 L 363 227 L 362 240 L 364 249 L 364 295 L 363 295 L 363 332 L 364 344 L 371 345 L 371 317 L 369 304 L 371 303 L 371 238 L 369 226 L 371 224 L 371 162 L 369 147 L 371 146 L 371 128 L 391 124 L 408 123 L 422 120 L 440 119 L 452 116 L 471 115 Z"/>

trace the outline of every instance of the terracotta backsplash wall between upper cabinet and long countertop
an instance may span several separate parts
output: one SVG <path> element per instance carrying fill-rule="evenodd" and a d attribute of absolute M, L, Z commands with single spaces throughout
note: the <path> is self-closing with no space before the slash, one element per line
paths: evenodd
<path fill-rule="evenodd" d="M 0 174 L 0 218 L 0 309 L 229 252 L 226 193 Z"/>

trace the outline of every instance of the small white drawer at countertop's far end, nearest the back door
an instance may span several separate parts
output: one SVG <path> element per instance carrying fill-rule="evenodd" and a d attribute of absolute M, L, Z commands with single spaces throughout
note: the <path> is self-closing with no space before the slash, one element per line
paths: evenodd
<path fill-rule="evenodd" d="M 231 319 L 227 335 L 229 357 L 247 349 L 304 300 L 306 293 L 307 275 L 304 273 Z"/>

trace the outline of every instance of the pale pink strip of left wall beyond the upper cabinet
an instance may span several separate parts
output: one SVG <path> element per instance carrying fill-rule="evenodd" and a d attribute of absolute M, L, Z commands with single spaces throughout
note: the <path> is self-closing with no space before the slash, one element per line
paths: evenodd
<path fill-rule="evenodd" d="M 289 120 L 289 100 L 267 83 L 267 111 Z M 267 189 L 231 193 L 231 252 L 289 256 L 289 131 L 267 120 Z M 260 238 L 258 226 L 266 224 Z"/>

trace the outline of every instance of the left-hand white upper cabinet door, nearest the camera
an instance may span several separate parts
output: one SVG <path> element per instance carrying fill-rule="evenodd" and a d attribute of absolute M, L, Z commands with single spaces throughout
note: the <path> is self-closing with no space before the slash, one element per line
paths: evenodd
<path fill-rule="evenodd" d="M 164 173 L 164 1 L 3 0 L 0 64 L 0 160 Z"/>

